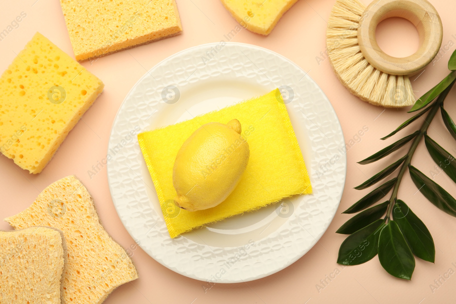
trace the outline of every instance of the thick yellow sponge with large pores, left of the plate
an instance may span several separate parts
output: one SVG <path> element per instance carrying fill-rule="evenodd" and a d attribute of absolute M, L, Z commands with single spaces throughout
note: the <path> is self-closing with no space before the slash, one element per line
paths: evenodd
<path fill-rule="evenodd" d="M 0 77 L 0 151 L 22 169 L 40 173 L 103 88 L 36 33 Z"/>

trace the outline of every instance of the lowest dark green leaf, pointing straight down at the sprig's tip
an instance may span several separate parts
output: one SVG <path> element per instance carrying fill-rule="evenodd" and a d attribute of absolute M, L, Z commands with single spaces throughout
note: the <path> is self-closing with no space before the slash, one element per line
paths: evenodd
<path fill-rule="evenodd" d="M 415 258 L 394 221 L 383 227 L 378 238 L 378 259 L 385 270 L 396 278 L 409 280 L 415 270 Z"/>

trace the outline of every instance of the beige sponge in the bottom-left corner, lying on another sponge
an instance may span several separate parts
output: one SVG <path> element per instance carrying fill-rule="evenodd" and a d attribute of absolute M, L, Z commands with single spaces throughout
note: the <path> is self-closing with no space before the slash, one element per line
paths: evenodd
<path fill-rule="evenodd" d="M 0 303 L 60 304 L 65 263 L 60 232 L 0 232 Z"/>

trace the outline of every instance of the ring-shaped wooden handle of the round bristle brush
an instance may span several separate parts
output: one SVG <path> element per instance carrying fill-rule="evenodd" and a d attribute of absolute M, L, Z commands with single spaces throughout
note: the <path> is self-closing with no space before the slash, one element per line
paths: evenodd
<path fill-rule="evenodd" d="M 409 57 L 397 58 L 384 53 L 375 40 L 378 23 L 390 17 L 412 22 L 420 34 L 420 48 Z M 367 61 L 392 75 L 416 73 L 434 59 L 442 44 L 440 16 L 427 0 L 373 0 L 364 11 L 358 27 L 358 43 Z"/>

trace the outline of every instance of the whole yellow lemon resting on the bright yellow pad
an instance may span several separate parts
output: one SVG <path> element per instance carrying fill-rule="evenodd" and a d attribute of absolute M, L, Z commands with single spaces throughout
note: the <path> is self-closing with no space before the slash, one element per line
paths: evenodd
<path fill-rule="evenodd" d="M 188 211 L 217 206 L 236 188 L 249 162 L 237 119 L 202 125 L 182 144 L 173 168 L 177 204 Z"/>

